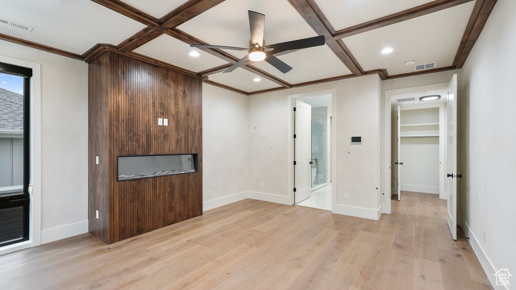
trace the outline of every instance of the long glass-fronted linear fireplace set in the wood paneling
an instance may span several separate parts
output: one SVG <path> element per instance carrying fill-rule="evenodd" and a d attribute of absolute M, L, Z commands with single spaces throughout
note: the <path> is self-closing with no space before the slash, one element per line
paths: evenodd
<path fill-rule="evenodd" d="M 197 172 L 197 154 L 118 156 L 118 181 Z"/>

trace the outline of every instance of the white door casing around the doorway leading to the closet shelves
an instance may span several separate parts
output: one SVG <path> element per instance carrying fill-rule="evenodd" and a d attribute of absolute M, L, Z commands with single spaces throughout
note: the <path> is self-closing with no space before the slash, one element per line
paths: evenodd
<path fill-rule="evenodd" d="M 395 90 L 386 90 L 383 101 L 384 101 L 384 150 L 383 150 L 383 184 L 385 189 L 385 195 L 382 195 L 382 213 L 390 214 L 391 213 L 391 98 L 393 95 L 404 94 L 404 93 L 414 93 L 420 91 L 429 91 L 429 90 L 439 90 L 439 89 L 448 89 L 449 83 L 441 83 L 441 84 L 433 84 L 426 86 L 418 86 L 418 87 L 410 87 L 410 88 L 402 88 Z"/>

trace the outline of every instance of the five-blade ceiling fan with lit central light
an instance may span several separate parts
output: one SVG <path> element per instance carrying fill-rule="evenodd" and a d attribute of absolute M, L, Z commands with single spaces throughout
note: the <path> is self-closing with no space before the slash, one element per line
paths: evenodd
<path fill-rule="evenodd" d="M 224 73 L 229 73 L 234 71 L 236 68 L 246 65 L 247 63 L 262 61 L 265 60 L 270 63 L 273 67 L 280 70 L 282 73 L 287 73 L 292 70 L 292 67 L 288 66 L 285 62 L 281 61 L 276 56 L 270 54 L 269 52 L 274 51 L 278 52 L 286 52 L 286 51 L 295 51 L 300 49 L 307 49 L 308 47 L 319 46 L 325 44 L 325 37 L 323 35 L 298 39 L 293 41 L 287 41 L 282 43 L 276 43 L 271 45 L 265 45 L 265 41 L 263 39 L 263 32 L 265 27 L 265 15 L 254 12 L 249 12 L 249 27 L 251 29 L 251 40 L 249 41 L 249 49 L 245 49 L 243 47 L 234 47 L 234 46 L 221 46 L 221 45 L 202 45 L 202 44 L 190 44 L 191 47 L 199 47 L 206 49 L 222 49 L 222 50 L 235 50 L 235 51 L 247 51 L 249 54 L 235 62 L 234 65 L 229 67 Z"/>

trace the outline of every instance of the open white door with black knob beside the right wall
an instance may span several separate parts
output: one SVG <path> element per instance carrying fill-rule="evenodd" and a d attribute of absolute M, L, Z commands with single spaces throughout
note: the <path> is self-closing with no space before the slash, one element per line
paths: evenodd
<path fill-rule="evenodd" d="M 447 105 L 447 220 L 451 236 L 457 239 L 457 75 L 451 78 L 448 85 Z M 462 178 L 462 175 L 459 175 Z"/>

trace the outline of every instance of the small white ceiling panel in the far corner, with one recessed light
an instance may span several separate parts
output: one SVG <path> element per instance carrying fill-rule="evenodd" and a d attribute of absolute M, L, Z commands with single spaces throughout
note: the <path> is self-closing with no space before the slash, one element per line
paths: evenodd
<path fill-rule="evenodd" d="M 260 78 L 260 82 L 254 82 L 254 78 Z M 243 68 L 237 68 L 230 73 L 217 73 L 210 75 L 209 80 L 213 80 L 216 83 L 230 86 L 235 89 L 243 90 L 246 92 L 254 92 L 260 90 L 266 90 L 271 88 L 280 87 L 280 85 L 271 82 L 270 80 L 258 76 L 252 72 L 249 72 Z"/>

